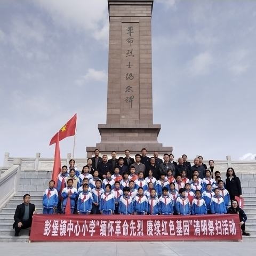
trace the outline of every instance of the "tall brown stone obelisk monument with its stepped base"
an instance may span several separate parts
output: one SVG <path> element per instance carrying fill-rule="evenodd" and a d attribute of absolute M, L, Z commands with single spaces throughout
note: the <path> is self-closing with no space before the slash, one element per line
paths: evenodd
<path fill-rule="evenodd" d="M 86 147 L 102 154 L 172 153 L 157 137 L 161 125 L 153 124 L 151 15 L 149 0 L 109 0 L 109 60 L 107 122 L 99 124 L 101 142 Z"/>

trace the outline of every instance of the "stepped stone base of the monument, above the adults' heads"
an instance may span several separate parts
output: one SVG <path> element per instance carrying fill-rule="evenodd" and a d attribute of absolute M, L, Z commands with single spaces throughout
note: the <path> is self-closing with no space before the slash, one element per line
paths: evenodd
<path fill-rule="evenodd" d="M 94 150 L 98 148 L 101 154 L 111 155 L 116 151 L 117 155 L 124 155 L 126 149 L 130 154 L 138 154 L 142 148 L 146 148 L 148 155 L 158 151 L 159 155 L 171 154 L 172 147 L 163 147 L 158 143 L 157 136 L 161 125 L 157 124 L 99 124 L 101 142 L 96 147 L 86 147 L 87 157 L 92 157 Z"/>

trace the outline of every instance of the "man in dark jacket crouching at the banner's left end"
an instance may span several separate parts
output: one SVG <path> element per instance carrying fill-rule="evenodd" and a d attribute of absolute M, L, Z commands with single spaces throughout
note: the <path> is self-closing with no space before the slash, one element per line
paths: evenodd
<path fill-rule="evenodd" d="M 35 205 L 30 204 L 30 195 L 23 196 L 23 203 L 19 204 L 15 210 L 13 228 L 15 236 L 19 236 L 20 230 L 31 227 Z"/>

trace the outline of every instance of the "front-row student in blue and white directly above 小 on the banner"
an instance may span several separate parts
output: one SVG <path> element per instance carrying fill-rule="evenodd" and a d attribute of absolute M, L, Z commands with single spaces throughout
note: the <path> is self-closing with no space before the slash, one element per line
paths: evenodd
<path fill-rule="evenodd" d="M 90 214 L 92 211 L 92 193 L 89 192 L 89 185 L 83 185 L 83 192 L 80 193 L 77 201 L 77 214 Z"/>

